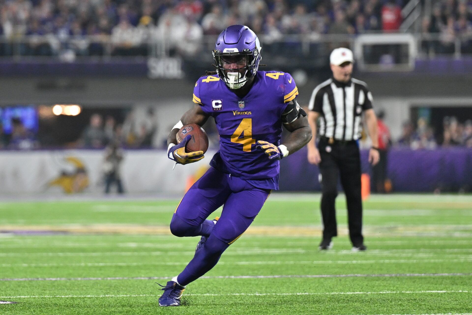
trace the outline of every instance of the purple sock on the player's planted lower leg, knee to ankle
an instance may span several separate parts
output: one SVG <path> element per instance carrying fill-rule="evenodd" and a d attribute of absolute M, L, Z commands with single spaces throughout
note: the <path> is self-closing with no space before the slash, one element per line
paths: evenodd
<path fill-rule="evenodd" d="M 177 276 L 177 282 L 186 286 L 210 271 L 228 246 L 228 243 L 211 235 L 205 245 L 195 252 L 194 258 L 187 264 L 184 271 Z"/>

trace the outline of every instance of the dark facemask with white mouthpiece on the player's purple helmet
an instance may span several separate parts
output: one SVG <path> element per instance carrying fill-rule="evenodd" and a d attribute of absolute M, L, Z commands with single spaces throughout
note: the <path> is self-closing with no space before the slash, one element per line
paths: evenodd
<path fill-rule="evenodd" d="M 226 49 L 225 49 L 226 50 Z M 213 51 L 218 75 L 230 89 L 241 88 L 250 78 L 254 77 L 261 61 L 260 48 L 253 51 L 221 52 Z M 237 68 L 228 69 L 229 64 L 235 64 Z M 226 66 L 226 67 L 225 67 Z"/>

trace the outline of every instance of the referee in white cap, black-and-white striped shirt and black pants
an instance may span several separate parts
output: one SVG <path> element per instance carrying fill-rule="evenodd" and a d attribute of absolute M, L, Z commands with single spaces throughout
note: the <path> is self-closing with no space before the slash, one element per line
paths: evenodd
<path fill-rule="evenodd" d="M 364 113 L 372 147 L 369 162 L 379 162 L 377 118 L 367 85 L 351 77 L 353 52 L 337 48 L 329 57 L 333 76 L 318 85 L 308 106 L 313 139 L 308 143 L 308 161 L 320 165 L 323 239 L 320 249 L 330 249 L 337 236 L 335 200 L 337 179 L 346 194 L 349 237 L 353 251 L 366 250 L 362 236 L 361 159 L 357 140 L 361 137 Z M 315 139 L 320 119 L 318 148 Z"/>

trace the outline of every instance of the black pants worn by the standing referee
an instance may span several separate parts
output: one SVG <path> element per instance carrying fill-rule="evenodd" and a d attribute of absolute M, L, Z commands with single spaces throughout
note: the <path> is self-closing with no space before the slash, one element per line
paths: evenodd
<path fill-rule="evenodd" d="M 354 246 L 363 243 L 362 237 L 362 196 L 361 196 L 361 157 L 355 141 L 329 144 L 321 138 L 321 216 L 323 219 L 323 238 L 337 236 L 335 201 L 337 179 L 346 194 L 349 237 Z"/>

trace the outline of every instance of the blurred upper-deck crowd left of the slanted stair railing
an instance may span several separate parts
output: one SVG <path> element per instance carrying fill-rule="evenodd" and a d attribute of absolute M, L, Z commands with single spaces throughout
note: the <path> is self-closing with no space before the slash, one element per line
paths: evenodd
<path fill-rule="evenodd" d="M 395 32 L 407 0 L 6 0 L 0 1 L 0 55 L 146 55 L 149 40 L 182 53 L 231 24 L 275 41 L 284 34 Z M 8 41 L 30 36 L 28 44 Z M 40 40 L 35 35 L 46 35 Z M 91 41 L 90 37 L 93 36 Z M 35 39 L 36 38 L 36 39 Z M 111 40 L 111 46 L 104 43 Z M 6 41 L 5 41 L 6 40 Z"/>

